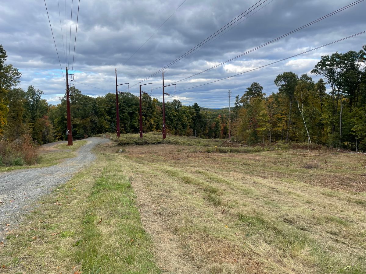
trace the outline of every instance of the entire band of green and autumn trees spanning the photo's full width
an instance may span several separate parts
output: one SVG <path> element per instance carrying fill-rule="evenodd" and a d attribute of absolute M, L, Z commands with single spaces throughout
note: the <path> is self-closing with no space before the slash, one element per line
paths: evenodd
<path fill-rule="evenodd" d="M 278 92 L 269 96 L 254 82 L 241 96 L 229 117 L 227 109 L 210 110 L 197 103 L 185 106 L 179 100 L 165 103 L 167 132 L 201 138 L 228 138 L 259 142 L 309 142 L 333 147 L 366 150 L 366 46 L 359 52 L 322 56 L 311 76 L 294 72 L 278 75 Z M 0 45 L 0 134 L 7 141 L 31 136 L 37 144 L 66 140 L 66 95 L 57 105 L 42 99 L 43 91 L 18 88 L 20 72 L 5 64 Z M 96 98 L 71 87 L 71 122 L 74 139 L 116 132 L 116 95 Z M 121 133 L 139 132 L 139 98 L 119 94 Z M 142 95 L 143 131 L 161 131 L 162 103 Z"/>

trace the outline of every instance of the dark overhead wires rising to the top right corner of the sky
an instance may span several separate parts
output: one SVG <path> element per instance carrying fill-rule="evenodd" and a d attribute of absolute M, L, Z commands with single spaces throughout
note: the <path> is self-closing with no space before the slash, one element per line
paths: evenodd
<path fill-rule="evenodd" d="M 356 5 L 356 4 L 359 4 L 359 3 L 361 3 L 362 1 L 364 1 L 364 0 L 358 0 L 358 1 L 355 1 L 355 2 L 353 2 L 353 3 L 351 3 L 351 4 L 349 4 L 349 5 L 344 6 L 343 8 L 340 8 L 340 9 L 337 9 L 336 11 L 331 12 L 330 14 L 324 15 L 324 16 L 322 16 L 321 18 L 318 18 L 318 19 L 316 19 L 316 20 L 314 20 L 314 21 L 312 21 L 312 22 L 310 22 L 310 23 L 307 23 L 307 24 L 305 24 L 305 25 L 303 25 L 303 26 L 301 26 L 301 27 L 298 27 L 298 28 L 296 28 L 295 30 L 292 30 L 292 31 L 290 31 L 290 32 L 288 32 L 288 33 L 286 33 L 286 34 L 284 34 L 284 35 L 281 35 L 280 37 L 277 37 L 277 38 L 275 38 L 275 39 L 273 39 L 273 40 L 271 40 L 271 41 L 269 41 L 269 42 L 266 42 L 266 43 L 264 43 L 264 44 L 262 44 L 262 45 L 258 46 L 258 47 L 255 47 L 254 49 L 251 49 L 251 50 L 249 50 L 249 51 L 247 51 L 247 52 L 244 52 L 244 53 L 242 53 L 242 54 L 239 54 L 238 56 L 235 56 L 235 57 L 233 57 L 233 58 L 231 58 L 231 59 L 229 59 L 229 60 L 227 60 L 227 61 L 225 61 L 225 62 L 222 62 L 222 63 L 220 63 L 220 64 L 218 64 L 218 65 L 212 66 L 211 68 L 205 69 L 204 71 L 201 71 L 201 72 L 195 73 L 194 75 L 191 75 L 191 76 L 185 77 L 185 78 L 183 78 L 183 79 L 180 79 L 179 81 L 175 81 L 175 82 L 173 82 L 173 84 L 178 83 L 178 82 L 183 81 L 183 80 L 186 80 L 186 79 L 189 79 L 189 78 L 191 78 L 191 77 L 197 76 L 197 75 L 199 75 L 199 74 L 201 74 L 201 73 L 203 73 L 203 72 L 209 71 L 210 69 L 217 68 L 218 66 L 221 66 L 221 65 L 223 65 L 223 64 L 225 64 L 225 63 L 227 63 L 227 62 L 230 62 L 230 61 L 235 60 L 235 59 L 237 59 L 237 58 L 239 58 L 239 57 L 242 57 L 242 56 L 244 56 L 244 55 L 246 55 L 246 54 L 248 54 L 248 53 L 254 52 L 254 51 L 255 51 L 255 50 L 257 50 L 257 49 L 260 49 L 261 47 L 264 47 L 264 46 L 266 46 L 266 45 L 269 45 L 270 43 L 276 42 L 276 41 L 278 41 L 278 40 L 280 40 L 280 39 L 282 39 L 282 38 L 284 38 L 284 37 L 286 37 L 286 36 L 288 36 L 288 35 L 290 35 L 290 34 L 295 33 L 296 31 L 302 30 L 303 28 L 309 27 L 309 26 L 311 26 L 312 24 L 315 24 L 315 23 L 317 23 L 317 22 L 319 22 L 319 21 L 321 21 L 321 20 L 324 20 L 324 19 L 328 18 L 329 16 L 335 15 L 335 14 L 337 14 L 338 12 L 341 12 L 341 11 L 343 11 L 343 10 L 347 9 L 347 8 L 350 8 L 350 7 L 352 7 L 352 6 Z"/>

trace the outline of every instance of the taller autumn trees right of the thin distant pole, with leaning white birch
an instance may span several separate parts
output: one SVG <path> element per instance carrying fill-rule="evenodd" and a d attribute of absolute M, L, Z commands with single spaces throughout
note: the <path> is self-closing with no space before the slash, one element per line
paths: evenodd
<path fill-rule="evenodd" d="M 274 80 L 278 92 L 265 97 L 252 83 L 235 98 L 234 133 L 249 144 L 309 142 L 366 150 L 366 45 L 359 52 L 322 56 L 311 74 L 284 72 Z"/>

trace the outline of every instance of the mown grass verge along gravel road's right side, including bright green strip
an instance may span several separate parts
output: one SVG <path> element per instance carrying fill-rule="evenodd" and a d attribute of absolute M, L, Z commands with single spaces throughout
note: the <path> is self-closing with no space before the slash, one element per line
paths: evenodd
<path fill-rule="evenodd" d="M 0 245 L 0 273 L 159 273 L 116 160 L 98 153 L 95 165 L 41 199 Z"/>

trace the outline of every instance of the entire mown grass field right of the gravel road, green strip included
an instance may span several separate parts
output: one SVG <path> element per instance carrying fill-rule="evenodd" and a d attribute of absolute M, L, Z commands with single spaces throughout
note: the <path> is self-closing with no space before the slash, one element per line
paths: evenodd
<path fill-rule="evenodd" d="M 215 145 L 99 145 L 0 273 L 366 273 L 365 155 Z"/>

